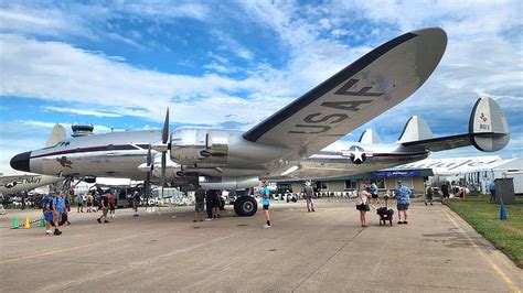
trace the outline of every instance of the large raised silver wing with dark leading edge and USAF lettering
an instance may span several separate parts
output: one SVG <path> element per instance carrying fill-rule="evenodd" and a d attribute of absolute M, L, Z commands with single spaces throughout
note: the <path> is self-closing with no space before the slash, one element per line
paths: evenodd
<path fill-rule="evenodd" d="M 403 34 L 244 133 L 244 139 L 309 156 L 396 106 L 434 72 L 447 46 L 438 28 Z"/>

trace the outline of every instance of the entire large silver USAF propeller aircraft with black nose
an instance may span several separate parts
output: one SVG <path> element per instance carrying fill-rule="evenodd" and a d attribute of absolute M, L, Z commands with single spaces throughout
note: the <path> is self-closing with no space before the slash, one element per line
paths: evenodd
<path fill-rule="evenodd" d="M 161 183 L 201 176 L 204 187 L 231 189 L 257 186 L 260 178 L 329 177 L 386 169 L 466 145 L 485 152 L 502 149 L 510 140 L 509 128 L 490 98 L 473 106 L 463 134 L 435 138 L 423 119 L 413 117 L 395 143 L 380 143 L 369 130 L 359 142 L 338 141 L 409 97 L 435 70 L 446 46 L 447 35 L 439 28 L 403 34 L 246 132 L 177 128 L 169 135 L 168 111 L 161 131 L 68 139 L 18 154 L 11 166 L 40 174 L 146 182 L 152 175 Z M 241 216 L 256 209 L 249 196 L 235 203 Z"/>

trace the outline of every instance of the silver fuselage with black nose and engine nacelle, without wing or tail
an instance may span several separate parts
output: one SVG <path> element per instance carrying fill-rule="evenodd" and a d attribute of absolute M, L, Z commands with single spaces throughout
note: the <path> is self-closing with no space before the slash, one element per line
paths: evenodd
<path fill-rule="evenodd" d="M 159 138 L 159 130 L 72 138 L 54 146 L 21 153 L 13 158 L 11 165 L 47 175 L 145 180 L 147 171 L 143 171 L 143 165 L 149 145 Z M 179 128 L 171 133 L 170 141 L 168 180 L 177 177 L 180 172 L 270 180 L 331 177 L 392 167 L 428 156 L 425 150 L 402 151 L 401 144 L 338 141 L 301 159 L 280 146 L 246 141 L 238 131 L 199 128 Z M 152 174 L 158 178 L 159 153 L 152 153 Z"/>

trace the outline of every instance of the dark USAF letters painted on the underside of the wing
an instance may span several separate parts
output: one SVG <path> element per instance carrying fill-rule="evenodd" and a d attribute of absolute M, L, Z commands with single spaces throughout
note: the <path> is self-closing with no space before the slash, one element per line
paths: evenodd
<path fill-rule="evenodd" d="M 383 93 L 369 93 L 372 86 L 362 87 L 360 90 L 354 91 L 352 89 L 359 79 L 350 79 L 338 89 L 334 95 L 338 96 L 352 96 L 352 97 L 380 97 Z M 343 101 L 324 101 L 321 106 L 327 108 L 333 108 L 342 111 L 352 111 L 357 112 L 361 110 L 360 105 L 371 104 L 373 99 L 369 100 L 343 100 Z M 297 130 L 290 130 L 288 133 L 301 133 L 301 134 L 318 134 L 327 132 L 331 129 L 330 124 L 340 123 L 343 120 L 349 119 L 349 115 L 340 113 L 330 113 L 323 115 L 322 112 L 310 113 L 303 118 L 303 123 L 298 123 L 295 126 Z M 325 124 L 327 123 L 327 124 Z"/>

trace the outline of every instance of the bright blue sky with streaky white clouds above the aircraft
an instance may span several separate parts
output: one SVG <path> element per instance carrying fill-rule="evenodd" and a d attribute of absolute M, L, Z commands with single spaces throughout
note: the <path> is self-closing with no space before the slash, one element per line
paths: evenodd
<path fill-rule="evenodd" d="M 413 115 L 435 134 L 465 133 L 476 99 L 489 96 L 512 133 L 494 154 L 522 156 L 522 1 L 0 0 L 0 171 L 43 146 L 56 122 L 160 128 L 170 107 L 171 127 L 247 130 L 373 47 L 426 26 L 449 37 L 436 72 L 346 139 L 373 128 L 394 142 Z"/>

